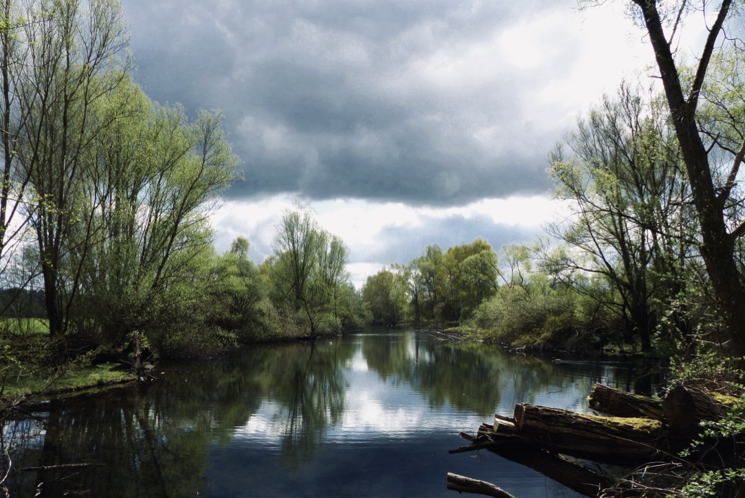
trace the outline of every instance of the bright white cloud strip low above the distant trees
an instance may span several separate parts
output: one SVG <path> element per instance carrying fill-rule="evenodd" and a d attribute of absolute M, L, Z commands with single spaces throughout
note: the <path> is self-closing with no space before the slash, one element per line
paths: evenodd
<path fill-rule="evenodd" d="M 228 201 L 212 217 L 217 230 L 218 250 L 227 250 L 232 239 L 245 236 L 251 242 L 251 256 L 263 261 L 272 253 L 276 226 L 287 209 L 295 209 L 297 200 L 290 195 L 278 195 L 261 201 Z M 384 203 L 362 200 L 311 201 L 303 203 L 317 214 L 321 227 L 340 236 L 350 252 L 347 271 L 356 287 L 393 262 L 405 263 L 408 259 L 379 260 L 377 256 L 391 253 L 387 231 L 413 233 L 437 222 L 458 220 L 476 221 L 480 233 L 469 233 L 460 244 L 472 242 L 476 236 L 486 237 L 495 227 L 516 227 L 539 232 L 542 225 L 562 212 L 562 204 L 547 196 L 483 199 L 463 207 L 436 208 L 412 207 L 402 203 Z M 491 225 L 491 226 L 490 226 Z M 478 228 L 477 228 L 478 230 Z M 425 232 L 426 233 L 426 232 Z M 410 240 L 400 240 L 403 246 Z M 416 242 L 414 242 L 416 244 Z M 422 241 L 421 247 L 412 248 L 418 254 L 426 245 L 437 240 Z M 498 250 L 495 247 L 495 250 Z M 395 248 L 393 250 L 395 253 Z M 410 252 L 410 251 L 409 251 Z M 372 257 L 373 259 L 370 259 Z"/>

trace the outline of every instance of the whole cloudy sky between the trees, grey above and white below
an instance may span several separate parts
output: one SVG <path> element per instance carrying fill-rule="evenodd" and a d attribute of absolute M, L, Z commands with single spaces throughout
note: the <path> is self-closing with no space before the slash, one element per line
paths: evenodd
<path fill-rule="evenodd" d="M 222 110 L 244 180 L 225 250 L 271 252 L 294 201 L 349 246 L 353 280 L 429 244 L 530 242 L 548 151 L 653 59 L 624 2 L 122 0 L 153 100 Z"/>

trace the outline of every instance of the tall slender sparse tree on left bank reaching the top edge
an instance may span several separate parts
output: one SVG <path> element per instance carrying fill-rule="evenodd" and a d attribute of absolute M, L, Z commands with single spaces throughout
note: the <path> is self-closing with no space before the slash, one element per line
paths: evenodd
<path fill-rule="evenodd" d="M 16 80 L 24 124 L 19 170 L 34 193 L 25 205 L 39 245 L 50 335 L 57 337 L 66 332 L 75 295 L 63 297 L 69 282 L 62 271 L 66 242 L 85 216 L 75 205 L 86 147 L 108 124 L 92 123 L 91 113 L 124 79 L 115 56 L 127 44 L 127 30 L 115 1 L 92 0 L 85 8 L 81 1 L 39 0 L 25 8 L 32 21 L 18 35 L 26 51 L 15 63 L 23 71 Z"/>

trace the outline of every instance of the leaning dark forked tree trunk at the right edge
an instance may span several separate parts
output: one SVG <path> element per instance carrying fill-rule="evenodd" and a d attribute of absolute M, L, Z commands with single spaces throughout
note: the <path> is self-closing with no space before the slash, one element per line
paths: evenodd
<path fill-rule="evenodd" d="M 596 3 L 596 2 L 593 2 Z M 736 148 L 730 149 L 724 174 L 715 171 L 715 151 L 711 143 L 707 145 L 706 134 L 701 133 L 697 119 L 700 116 L 700 99 L 706 82 L 712 56 L 721 45 L 732 41 L 724 28 L 727 19 L 738 14 L 732 0 L 723 0 L 715 8 L 714 21 L 707 25 L 708 36 L 697 57 L 697 65 L 689 81 L 682 78 L 673 53 L 674 37 L 686 13 L 706 10 L 711 2 L 662 3 L 650 0 L 633 0 L 635 12 L 649 36 L 665 97 L 671 112 L 673 126 L 679 142 L 688 180 L 691 183 L 691 197 L 696 208 L 701 230 L 700 253 L 706 264 L 706 271 L 723 324 L 729 332 L 733 353 L 745 354 L 745 283 L 737 265 L 736 242 L 745 234 L 743 218 L 730 219 L 726 215 L 728 204 L 743 201 L 741 192 L 735 189 L 738 174 L 745 158 L 745 140 Z M 670 31 L 665 31 L 664 22 L 669 19 Z M 718 41 L 723 40 L 720 45 Z M 687 90 L 684 90 L 684 83 Z M 734 154 L 732 154 L 734 153 Z"/>

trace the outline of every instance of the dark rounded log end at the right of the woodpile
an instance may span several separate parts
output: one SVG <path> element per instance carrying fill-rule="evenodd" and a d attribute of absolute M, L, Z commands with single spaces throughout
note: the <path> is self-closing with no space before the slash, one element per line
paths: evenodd
<path fill-rule="evenodd" d="M 699 388 L 678 385 L 662 400 L 665 422 L 676 431 L 695 430 L 701 420 L 719 420 L 726 406 Z"/>

